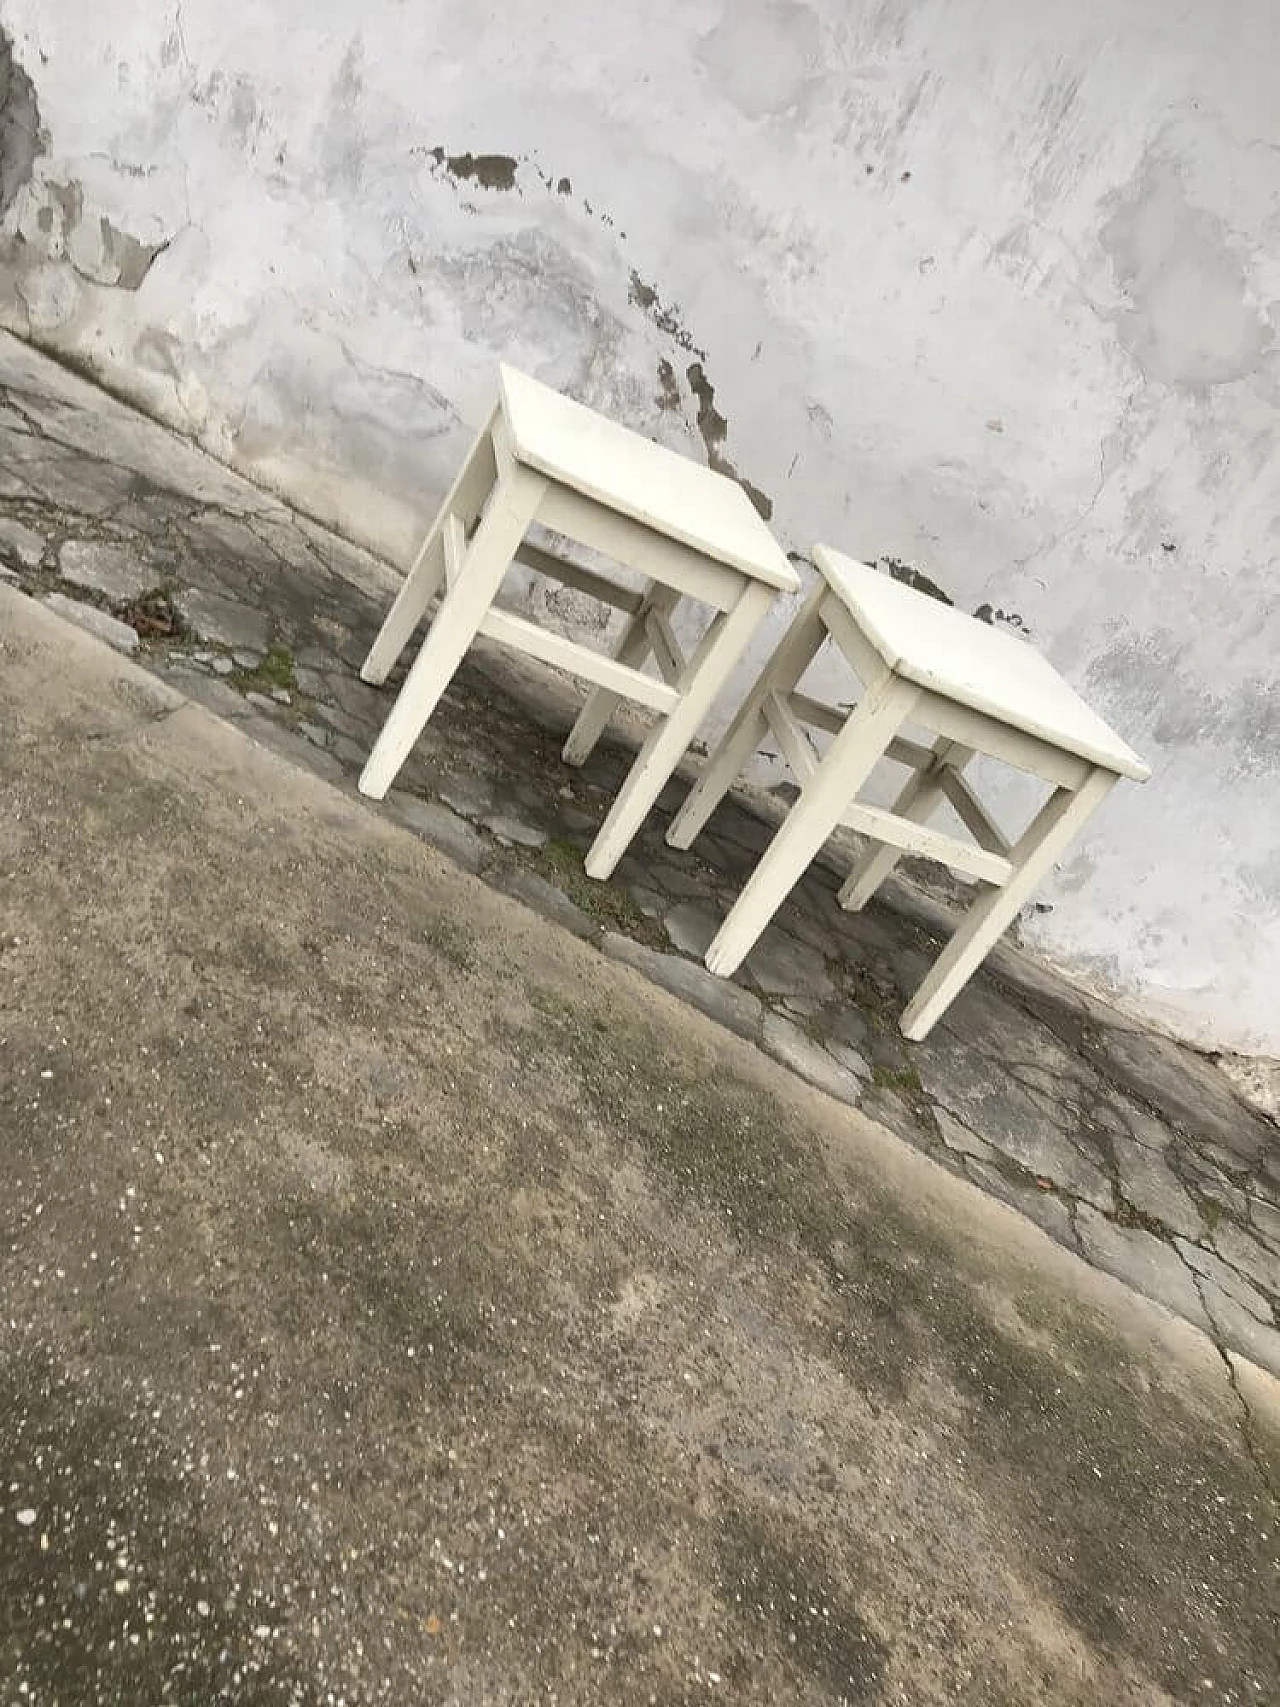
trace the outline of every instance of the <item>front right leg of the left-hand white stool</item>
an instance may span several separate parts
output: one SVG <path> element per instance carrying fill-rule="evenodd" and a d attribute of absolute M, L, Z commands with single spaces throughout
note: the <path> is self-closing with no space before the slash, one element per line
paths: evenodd
<path fill-rule="evenodd" d="M 679 703 L 649 731 L 601 833 L 587 850 L 589 877 L 608 877 L 613 872 L 771 604 L 773 589 L 753 580 L 730 611 L 720 611 L 712 620 L 684 666 Z"/>

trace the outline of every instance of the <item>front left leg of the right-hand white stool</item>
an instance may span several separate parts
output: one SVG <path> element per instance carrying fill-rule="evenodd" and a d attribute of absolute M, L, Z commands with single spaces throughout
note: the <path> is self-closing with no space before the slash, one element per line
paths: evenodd
<path fill-rule="evenodd" d="M 707 949 L 707 966 L 713 973 L 727 978 L 742 964 L 918 696 L 920 690 L 910 681 L 882 676 L 850 712 Z"/>

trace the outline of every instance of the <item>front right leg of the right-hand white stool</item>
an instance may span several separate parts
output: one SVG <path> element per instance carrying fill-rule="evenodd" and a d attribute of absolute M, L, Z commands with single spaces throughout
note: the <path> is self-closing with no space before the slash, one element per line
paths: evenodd
<path fill-rule="evenodd" d="M 1036 884 L 1084 830 L 1103 804 L 1116 777 L 1092 770 L 1079 789 L 1056 789 L 1009 855 L 1014 872 L 1002 888 L 981 894 L 961 920 L 956 934 L 928 976 L 911 997 L 899 1024 L 903 1034 L 920 1043 L 954 1002 L 983 963 L 1000 932 L 1027 901 Z"/>

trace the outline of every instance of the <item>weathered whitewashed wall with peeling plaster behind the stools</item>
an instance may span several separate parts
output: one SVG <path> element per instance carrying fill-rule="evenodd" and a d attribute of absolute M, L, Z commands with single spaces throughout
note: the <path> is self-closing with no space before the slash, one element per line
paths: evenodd
<path fill-rule="evenodd" d="M 1029 934 L 1280 1053 L 1273 0 L 2 15 L 5 324 L 399 558 L 502 355 L 1024 628 L 1157 766 Z"/>

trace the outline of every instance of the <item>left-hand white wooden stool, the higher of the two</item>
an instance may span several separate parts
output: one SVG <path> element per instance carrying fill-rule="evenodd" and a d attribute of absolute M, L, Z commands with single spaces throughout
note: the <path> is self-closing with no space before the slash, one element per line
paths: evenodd
<path fill-rule="evenodd" d="M 618 586 L 526 541 L 534 522 L 647 579 Z M 514 560 L 628 613 L 613 657 L 498 609 Z M 594 683 L 565 743 L 582 765 L 620 700 L 660 712 L 587 854 L 608 877 L 688 749 L 778 592 L 795 570 L 739 485 L 640 434 L 604 420 L 510 367 L 440 514 L 374 640 L 360 674 L 386 681 L 427 606 L 444 587 L 422 650 L 360 775 L 381 801 L 476 635 L 486 635 Z M 671 626 L 683 597 L 713 606 L 684 657 Z M 642 669 L 654 655 L 659 676 Z"/>

